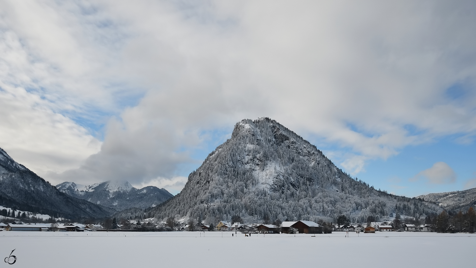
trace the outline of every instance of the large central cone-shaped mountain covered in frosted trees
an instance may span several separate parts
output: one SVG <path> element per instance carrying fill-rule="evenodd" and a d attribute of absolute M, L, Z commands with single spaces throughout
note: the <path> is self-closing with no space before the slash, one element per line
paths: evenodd
<path fill-rule="evenodd" d="M 228 220 L 377 220 L 425 216 L 442 208 L 378 191 L 337 168 L 316 146 L 269 118 L 242 120 L 231 138 L 188 176 L 183 190 L 146 216 Z"/>

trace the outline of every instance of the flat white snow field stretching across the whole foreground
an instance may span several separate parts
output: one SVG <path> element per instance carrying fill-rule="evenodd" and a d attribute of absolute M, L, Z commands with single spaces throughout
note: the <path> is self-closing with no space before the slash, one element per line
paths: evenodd
<path fill-rule="evenodd" d="M 476 234 L 231 234 L 1 231 L 0 267 L 475 267 Z"/>

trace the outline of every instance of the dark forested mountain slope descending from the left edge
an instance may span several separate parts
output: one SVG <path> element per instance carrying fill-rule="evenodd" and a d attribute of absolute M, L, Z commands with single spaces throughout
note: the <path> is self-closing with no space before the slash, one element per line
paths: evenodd
<path fill-rule="evenodd" d="M 114 209 L 60 192 L 0 148 L 0 205 L 69 219 L 102 218 Z"/>

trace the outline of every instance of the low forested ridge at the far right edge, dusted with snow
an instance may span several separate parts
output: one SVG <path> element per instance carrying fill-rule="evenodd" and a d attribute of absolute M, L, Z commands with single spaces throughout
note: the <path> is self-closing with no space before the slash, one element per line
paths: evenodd
<path fill-rule="evenodd" d="M 425 201 L 435 202 L 447 210 L 466 212 L 470 206 L 476 205 L 476 188 L 446 193 L 417 196 Z"/>

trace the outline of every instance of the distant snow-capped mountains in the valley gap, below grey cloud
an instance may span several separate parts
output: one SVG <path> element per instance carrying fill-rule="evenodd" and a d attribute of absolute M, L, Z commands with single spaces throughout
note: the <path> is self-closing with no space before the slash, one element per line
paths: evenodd
<path fill-rule="evenodd" d="M 136 189 L 127 181 L 107 181 L 87 186 L 74 182 L 63 182 L 56 187 L 61 192 L 70 196 L 111 207 L 118 211 L 133 207 L 143 209 L 157 206 L 173 197 L 173 195 L 164 188 L 160 189 L 155 186 L 146 186 L 141 189 Z"/>

